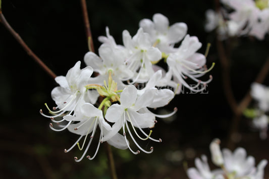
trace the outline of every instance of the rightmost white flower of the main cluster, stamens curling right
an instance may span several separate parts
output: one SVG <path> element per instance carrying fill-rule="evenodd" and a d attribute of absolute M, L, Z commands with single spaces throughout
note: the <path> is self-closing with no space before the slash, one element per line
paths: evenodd
<path fill-rule="evenodd" d="M 173 74 L 173 80 L 194 92 L 203 91 L 205 84 L 212 80 L 212 76 L 205 82 L 197 79 L 213 67 L 212 66 L 209 70 L 204 67 L 206 61 L 205 56 L 196 52 L 201 46 L 202 44 L 197 37 L 186 35 L 177 51 L 170 54 L 167 58 L 169 71 Z M 197 82 L 197 84 L 194 86 L 187 84 L 185 79 L 188 77 Z M 198 89 L 200 84 L 203 84 L 203 87 Z M 177 94 L 180 93 L 180 90 L 181 89 L 178 89 Z"/>

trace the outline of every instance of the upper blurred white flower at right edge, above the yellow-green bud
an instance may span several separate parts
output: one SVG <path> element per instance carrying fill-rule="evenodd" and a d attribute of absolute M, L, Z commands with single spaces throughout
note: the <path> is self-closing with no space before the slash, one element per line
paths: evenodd
<path fill-rule="evenodd" d="M 269 88 L 259 83 L 251 85 L 251 96 L 258 101 L 261 110 L 269 110 Z"/>

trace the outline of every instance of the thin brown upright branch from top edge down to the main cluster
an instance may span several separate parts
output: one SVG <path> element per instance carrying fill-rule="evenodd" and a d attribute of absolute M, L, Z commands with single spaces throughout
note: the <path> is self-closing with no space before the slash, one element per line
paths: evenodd
<path fill-rule="evenodd" d="M 82 14 L 83 14 L 83 20 L 84 20 L 84 26 L 85 26 L 89 51 L 94 52 L 94 45 L 93 45 L 93 40 L 91 36 L 91 29 L 90 29 L 90 22 L 88 18 L 86 0 L 81 0 L 80 3 L 81 3 L 81 9 L 82 9 Z"/>

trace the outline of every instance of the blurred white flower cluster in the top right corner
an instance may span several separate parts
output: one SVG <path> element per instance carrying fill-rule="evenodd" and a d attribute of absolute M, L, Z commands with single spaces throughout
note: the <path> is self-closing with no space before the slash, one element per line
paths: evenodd
<path fill-rule="evenodd" d="M 219 38 L 251 35 L 262 40 L 269 31 L 268 0 L 222 0 L 220 12 L 206 11 L 206 31 L 217 29 Z"/>

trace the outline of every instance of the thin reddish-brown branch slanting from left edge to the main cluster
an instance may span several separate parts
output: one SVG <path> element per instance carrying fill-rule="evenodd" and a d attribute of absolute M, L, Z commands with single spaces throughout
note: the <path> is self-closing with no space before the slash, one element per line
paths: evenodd
<path fill-rule="evenodd" d="M 1 3 L 1 2 L 0 2 Z M 2 9 L 0 6 L 0 22 L 6 27 L 6 29 L 13 35 L 13 37 L 21 44 L 23 49 L 27 52 L 29 56 L 31 56 L 34 61 L 53 79 L 57 77 L 55 73 L 53 73 L 43 62 L 42 60 L 26 45 L 20 35 L 10 26 L 8 21 L 6 20 L 4 14 L 2 13 Z"/>

